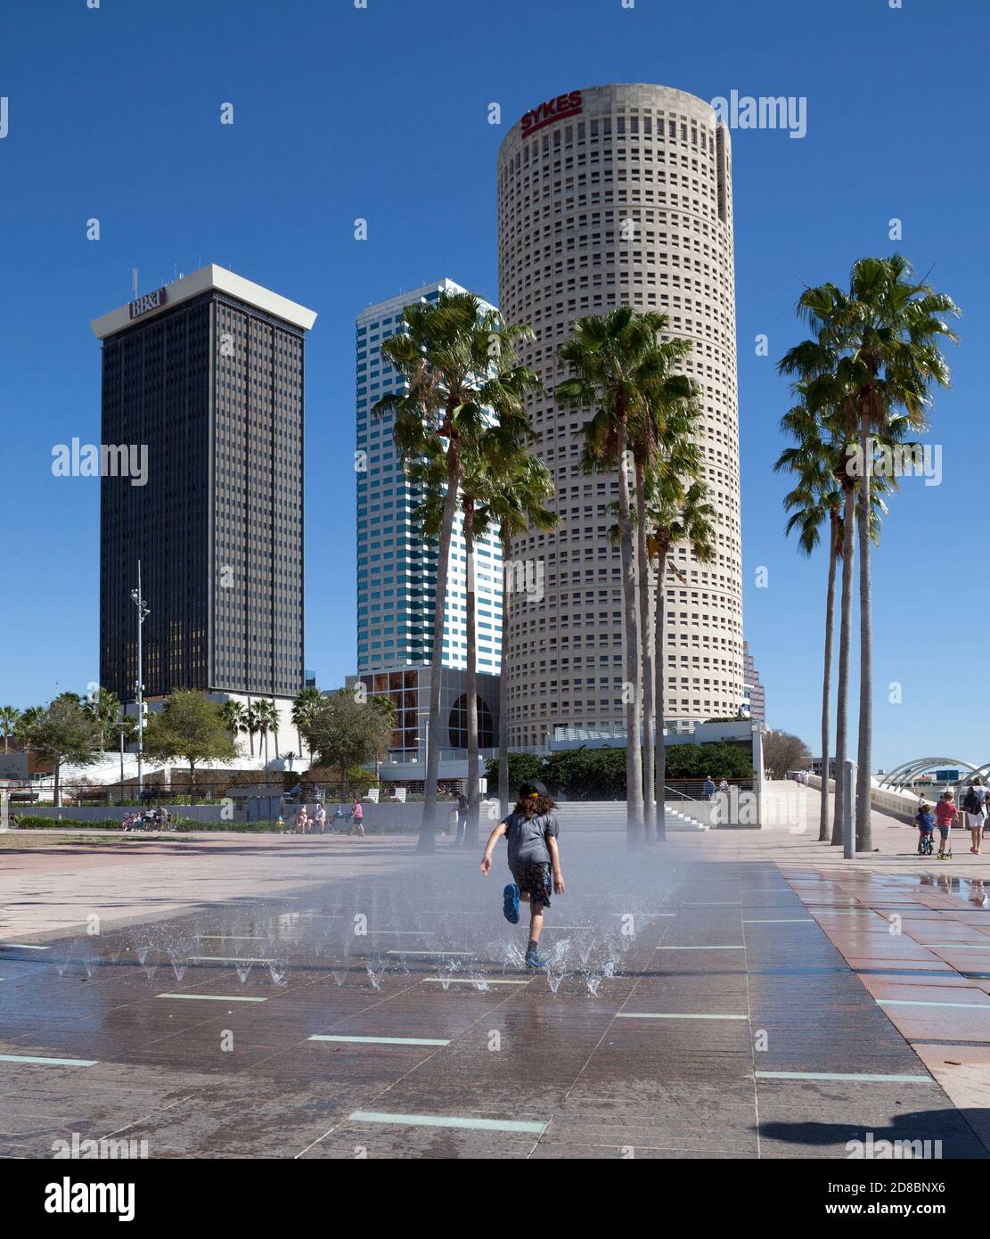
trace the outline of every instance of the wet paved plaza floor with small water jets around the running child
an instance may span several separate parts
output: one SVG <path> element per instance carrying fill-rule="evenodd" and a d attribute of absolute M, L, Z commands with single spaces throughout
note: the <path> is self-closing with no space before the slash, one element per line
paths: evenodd
<path fill-rule="evenodd" d="M 986 1157 L 980 886 L 824 872 L 817 846 L 778 865 L 719 833 L 629 857 L 563 831 L 537 975 L 504 854 L 486 880 L 450 845 L 7 934 L 0 1155 L 74 1132 L 151 1157 L 846 1158 L 872 1132 Z"/>

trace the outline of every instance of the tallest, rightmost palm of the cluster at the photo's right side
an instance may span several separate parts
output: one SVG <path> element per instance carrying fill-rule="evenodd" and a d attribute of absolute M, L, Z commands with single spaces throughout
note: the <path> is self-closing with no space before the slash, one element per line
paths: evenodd
<path fill-rule="evenodd" d="M 955 341 L 945 317 L 959 309 L 928 284 L 912 280 L 912 268 L 901 254 L 864 258 L 852 265 L 849 290 L 834 284 L 807 289 L 798 313 L 815 333 L 817 364 L 809 356 L 793 358 L 792 373 L 825 377 L 843 393 L 850 442 L 856 452 L 848 462 L 854 486 L 859 479 L 860 546 L 860 711 L 856 774 L 856 840 L 872 851 L 872 458 L 874 436 L 903 440 L 905 427 L 927 427 L 932 387 L 948 387 L 949 368 L 943 341 Z M 800 349 L 802 346 L 798 346 Z M 792 351 L 794 353 L 795 351 Z M 788 361 L 784 358 L 784 362 Z M 783 363 L 782 363 L 783 367 Z M 901 411 L 903 410 L 903 413 Z M 849 508 L 846 517 L 851 513 Z M 846 540 L 851 539 L 851 530 Z M 844 565 L 845 567 L 845 565 Z M 851 624 L 851 615 L 850 615 Z"/>

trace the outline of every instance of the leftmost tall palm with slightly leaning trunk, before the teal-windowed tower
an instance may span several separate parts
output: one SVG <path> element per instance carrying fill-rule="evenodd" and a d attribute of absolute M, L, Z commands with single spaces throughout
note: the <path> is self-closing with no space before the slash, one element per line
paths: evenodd
<path fill-rule="evenodd" d="M 405 388 L 384 395 L 373 413 L 394 415 L 393 440 L 404 468 L 429 458 L 442 458 L 445 466 L 429 720 L 430 733 L 439 736 L 450 541 L 465 453 L 493 421 L 508 435 L 512 426 L 528 429 L 523 398 L 540 383 L 533 370 L 518 364 L 514 352 L 515 341 L 532 335 L 529 328 L 507 325 L 498 311 L 483 310 L 468 292 L 441 292 L 432 305 L 409 305 L 403 318 L 404 328 L 382 343 L 382 356 L 405 379 Z M 525 441 L 524 432 L 518 441 Z M 420 851 L 435 846 L 439 762 L 440 745 L 432 743 L 426 757 Z"/>

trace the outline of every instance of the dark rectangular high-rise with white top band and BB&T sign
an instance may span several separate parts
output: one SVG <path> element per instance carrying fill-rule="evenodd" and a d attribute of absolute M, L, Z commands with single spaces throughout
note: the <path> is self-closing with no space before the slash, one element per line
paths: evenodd
<path fill-rule="evenodd" d="M 315 318 L 211 265 L 92 323 L 102 452 L 121 463 L 100 482 L 100 684 L 123 701 L 138 679 L 138 560 L 145 696 L 302 686 L 302 349 Z"/>

